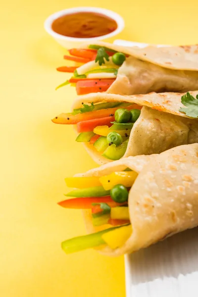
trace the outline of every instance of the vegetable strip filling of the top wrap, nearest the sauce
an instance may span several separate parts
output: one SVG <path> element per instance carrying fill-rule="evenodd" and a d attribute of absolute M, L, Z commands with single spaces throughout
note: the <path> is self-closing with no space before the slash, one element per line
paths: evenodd
<path fill-rule="evenodd" d="M 70 72 L 73 76 L 56 90 L 71 84 L 76 87 L 78 95 L 107 91 L 116 79 L 118 68 L 128 56 L 96 45 L 90 45 L 88 49 L 69 49 L 69 53 L 64 55 L 64 59 L 82 65 L 58 67 L 58 71 Z"/>

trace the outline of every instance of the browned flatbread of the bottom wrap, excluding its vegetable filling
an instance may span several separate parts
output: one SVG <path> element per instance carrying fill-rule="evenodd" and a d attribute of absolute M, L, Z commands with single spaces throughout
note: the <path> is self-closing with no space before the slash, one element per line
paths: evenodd
<path fill-rule="evenodd" d="M 127 167 L 139 173 L 128 199 L 132 234 L 122 247 L 101 247 L 102 253 L 131 253 L 198 226 L 198 144 L 123 158 L 77 176 L 100 177 Z M 84 215 L 89 233 L 103 228 L 92 225 L 89 211 Z"/>

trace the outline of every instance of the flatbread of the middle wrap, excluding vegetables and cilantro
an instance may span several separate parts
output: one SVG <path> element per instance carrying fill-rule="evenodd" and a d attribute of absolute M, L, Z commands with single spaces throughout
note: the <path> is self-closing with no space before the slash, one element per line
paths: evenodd
<path fill-rule="evenodd" d="M 194 97 L 198 91 L 190 92 Z M 78 108 L 84 103 L 97 102 L 131 102 L 143 108 L 135 122 L 123 157 L 160 153 L 180 145 L 198 143 L 198 120 L 191 119 L 179 111 L 181 93 L 149 93 L 147 95 L 122 96 L 107 93 L 93 93 L 79 96 L 73 104 Z M 54 119 L 54 122 L 56 120 Z M 92 158 L 99 164 L 111 160 L 101 156 L 93 145 L 84 143 Z"/>

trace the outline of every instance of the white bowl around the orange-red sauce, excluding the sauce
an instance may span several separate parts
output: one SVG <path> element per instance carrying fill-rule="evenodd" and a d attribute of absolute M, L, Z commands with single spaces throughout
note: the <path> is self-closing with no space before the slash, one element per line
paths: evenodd
<path fill-rule="evenodd" d="M 97 12 L 97 13 L 103 14 L 105 16 L 108 16 L 116 21 L 117 29 L 109 34 L 99 36 L 99 37 L 94 37 L 94 38 L 67 37 L 67 36 L 60 35 L 51 29 L 51 25 L 55 19 L 65 15 L 65 14 L 71 14 L 71 13 L 81 12 L 81 11 Z M 109 37 L 113 37 L 113 36 L 117 35 L 124 29 L 124 20 L 119 14 L 117 14 L 114 11 L 111 11 L 111 10 L 108 10 L 105 8 L 84 6 L 84 7 L 74 7 L 74 8 L 64 9 L 64 10 L 61 10 L 61 11 L 51 14 L 45 21 L 44 28 L 49 33 L 49 35 L 51 35 L 55 39 L 55 41 L 57 41 L 65 49 L 68 49 L 68 48 L 72 48 L 72 47 L 79 47 L 80 44 L 82 44 L 82 43 L 92 43 L 97 40 L 105 40 Z"/>

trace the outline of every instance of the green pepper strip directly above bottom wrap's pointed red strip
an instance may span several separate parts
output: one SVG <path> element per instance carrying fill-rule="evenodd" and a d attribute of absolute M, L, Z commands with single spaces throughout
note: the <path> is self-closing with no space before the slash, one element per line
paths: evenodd
<path fill-rule="evenodd" d="M 102 197 L 102 196 L 108 196 L 109 194 L 110 194 L 110 191 L 105 191 L 104 188 L 100 186 L 100 187 L 92 187 L 92 188 L 85 188 L 85 189 L 77 189 L 64 195 L 68 197 L 83 198 L 83 197 Z"/>

